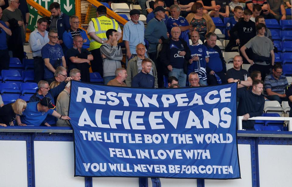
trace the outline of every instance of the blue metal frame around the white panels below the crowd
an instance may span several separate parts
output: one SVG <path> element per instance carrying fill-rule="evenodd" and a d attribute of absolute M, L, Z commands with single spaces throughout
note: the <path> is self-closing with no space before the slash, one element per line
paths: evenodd
<path fill-rule="evenodd" d="M 16 129 L 21 129 L 17 132 Z M 33 130 L 31 130 L 33 129 Z M 12 132 L 7 132 L 7 130 Z M 25 132 L 26 130 L 30 130 Z M 34 141 L 73 141 L 70 128 L 46 127 L 27 128 L 12 127 L 2 130 L 0 127 L 0 140 L 26 141 L 27 181 L 28 187 L 35 187 L 34 167 Z M 33 132 L 35 130 L 35 132 Z M 61 131 L 60 131 L 61 130 Z M 69 130 L 69 131 L 68 131 Z M 273 134 L 271 134 L 273 133 Z M 238 144 L 249 144 L 251 148 L 252 186 L 259 187 L 259 153 L 258 145 L 292 145 L 292 132 L 277 131 L 238 131 Z M 151 178 L 153 187 L 161 187 L 159 178 Z M 85 187 L 92 187 L 92 177 L 85 177 Z M 148 178 L 139 178 L 139 187 L 148 187 Z M 197 187 L 205 187 L 204 179 L 197 179 Z"/>

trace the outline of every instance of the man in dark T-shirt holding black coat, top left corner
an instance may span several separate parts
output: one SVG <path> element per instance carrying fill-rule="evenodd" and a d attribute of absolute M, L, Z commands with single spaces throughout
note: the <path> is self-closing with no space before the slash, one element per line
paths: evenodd
<path fill-rule="evenodd" d="M 3 10 L 1 20 L 11 29 L 12 35 L 8 39 L 8 50 L 12 51 L 13 57 L 24 58 L 23 43 L 25 42 L 25 24 L 19 7 L 19 1 L 8 0 L 9 6 Z"/>

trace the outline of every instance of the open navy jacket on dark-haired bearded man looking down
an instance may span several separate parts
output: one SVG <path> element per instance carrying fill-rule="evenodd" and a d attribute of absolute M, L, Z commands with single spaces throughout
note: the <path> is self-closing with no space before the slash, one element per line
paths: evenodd
<path fill-rule="evenodd" d="M 50 17 L 49 20 L 49 25 L 51 25 L 53 20 L 53 16 Z M 70 22 L 69 22 L 69 16 L 64 14 L 63 12 L 61 12 L 60 17 L 57 20 L 57 32 L 58 32 L 58 36 L 59 36 L 59 40 L 63 40 L 63 33 L 67 30 L 70 29 Z M 51 26 L 50 28 L 47 29 L 47 31 L 51 30 Z"/>

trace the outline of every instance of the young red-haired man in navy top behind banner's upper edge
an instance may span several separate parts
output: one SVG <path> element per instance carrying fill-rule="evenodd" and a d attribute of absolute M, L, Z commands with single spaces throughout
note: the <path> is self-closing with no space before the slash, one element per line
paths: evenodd
<path fill-rule="evenodd" d="M 132 87 L 135 88 L 154 88 L 154 77 L 149 74 L 152 63 L 150 59 L 142 60 L 142 70 L 132 80 Z"/>

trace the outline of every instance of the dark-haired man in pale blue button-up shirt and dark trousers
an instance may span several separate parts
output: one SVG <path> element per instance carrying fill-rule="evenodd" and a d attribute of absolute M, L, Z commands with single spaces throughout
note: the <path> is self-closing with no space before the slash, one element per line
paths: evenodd
<path fill-rule="evenodd" d="M 44 66 L 42 60 L 41 50 L 50 40 L 48 37 L 47 20 L 40 18 L 37 20 L 37 28 L 30 33 L 30 49 L 33 53 L 33 64 L 34 64 L 34 82 L 38 83 L 43 80 Z"/>

